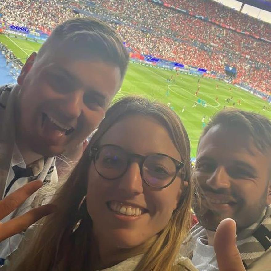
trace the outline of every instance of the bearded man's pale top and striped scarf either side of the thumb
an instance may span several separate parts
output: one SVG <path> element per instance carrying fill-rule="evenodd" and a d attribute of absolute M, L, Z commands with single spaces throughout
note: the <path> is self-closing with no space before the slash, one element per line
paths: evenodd
<path fill-rule="evenodd" d="M 237 247 L 246 270 L 271 271 L 271 205 L 267 206 L 259 220 L 237 234 Z M 191 229 L 184 255 L 200 271 L 217 271 L 218 265 L 212 246 L 208 245 L 206 230 L 196 224 Z"/>

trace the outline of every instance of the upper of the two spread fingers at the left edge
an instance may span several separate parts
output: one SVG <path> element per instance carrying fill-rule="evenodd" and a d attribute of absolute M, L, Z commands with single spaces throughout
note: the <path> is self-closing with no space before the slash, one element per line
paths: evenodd
<path fill-rule="evenodd" d="M 41 187 L 42 181 L 32 181 L 6 196 L 0 201 L 0 219 L 10 214 Z"/>

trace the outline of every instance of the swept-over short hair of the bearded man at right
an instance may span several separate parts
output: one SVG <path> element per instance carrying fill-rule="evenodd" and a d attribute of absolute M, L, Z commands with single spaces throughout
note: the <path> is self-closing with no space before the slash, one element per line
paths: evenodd
<path fill-rule="evenodd" d="M 262 153 L 271 147 L 271 121 L 260 114 L 239 109 L 222 110 L 204 128 L 200 140 L 215 125 L 221 125 L 227 129 L 238 129 L 244 135 L 251 136 L 257 149 Z"/>

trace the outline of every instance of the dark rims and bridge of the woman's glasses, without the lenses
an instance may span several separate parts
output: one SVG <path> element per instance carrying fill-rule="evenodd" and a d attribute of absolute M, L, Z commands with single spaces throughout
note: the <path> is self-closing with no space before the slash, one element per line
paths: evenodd
<path fill-rule="evenodd" d="M 106 177 L 104 177 L 104 176 L 97 170 L 97 168 L 96 168 L 96 155 L 97 155 L 97 153 L 98 153 L 99 150 L 101 150 L 103 147 L 108 147 L 108 146 L 120 148 L 123 152 L 125 152 L 125 153 L 127 154 L 127 157 L 128 157 L 128 160 L 127 160 L 127 166 L 126 166 L 125 170 L 123 171 L 123 173 L 122 173 L 120 176 L 115 177 L 115 178 L 106 178 Z M 147 159 L 149 156 L 153 156 L 153 155 L 162 155 L 162 156 L 166 156 L 166 157 L 170 158 L 170 159 L 173 161 L 173 163 L 175 164 L 175 175 L 173 176 L 172 180 L 171 180 L 168 184 L 166 184 L 166 185 L 164 185 L 164 186 L 162 186 L 162 187 L 156 187 L 156 186 L 150 185 L 146 180 L 144 180 L 144 178 L 143 178 L 143 176 L 142 176 L 142 175 L 143 175 L 143 170 L 142 170 L 142 168 L 143 168 L 144 162 L 146 161 L 146 159 Z M 179 161 L 179 160 L 177 160 L 177 159 L 175 159 L 175 158 L 173 158 L 173 157 L 171 157 L 171 156 L 169 156 L 169 155 L 167 155 L 167 154 L 164 154 L 164 153 L 152 153 L 151 155 L 144 156 L 144 155 L 137 154 L 137 153 L 130 153 L 130 152 L 127 152 L 127 151 L 125 151 L 123 148 L 121 148 L 120 146 L 114 145 L 114 144 L 104 144 L 104 145 L 92 147 L 92 148 L 90 149 L 90 152 L 89 152 L 89 157 L 92 158 L 92 160 L 93 160 L 93 164 L 94 164 L 94 168 L 95 168 L 96 172 L 97 172 L 101 177 L 103 177 L 104 179 L 107 179 L 107 180 L 116 180 L 116 179 L 118 179 L 118 178 L 121 178 L 121 177 L 127 172 L 129 166 L 131 165 L 131 162 L 132 162 L 131 157 L 137 157 L 137 158 L 140 158 L 140 162 L 138 162 L 138 165 L 139 165 L 139 168 L 140 168 L 140 176 L 141 176 L 141 179 L 142 179 L 142 180 L 145 182 L 145 184 L 147 184 L 149 187 L 156 188 L 156 189 L 164 189 L 164 188 L 168 187 L 169 185 L 171 185 L 171 184 L 174 182 L 174 180 L 175 180 L 175 178 L 176 178 L 178 172 L 180 171 L 180 169 L 184 167 L 184 162 Z"/>

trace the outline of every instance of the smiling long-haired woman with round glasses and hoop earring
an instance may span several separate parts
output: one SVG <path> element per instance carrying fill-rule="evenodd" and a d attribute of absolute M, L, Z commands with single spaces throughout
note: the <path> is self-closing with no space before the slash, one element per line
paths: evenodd
<path fill-rule="evenodd" d="M 126 97 L 106 113 L 11 270 L 195 270 L 190 144 L 168 107 Z"/>

